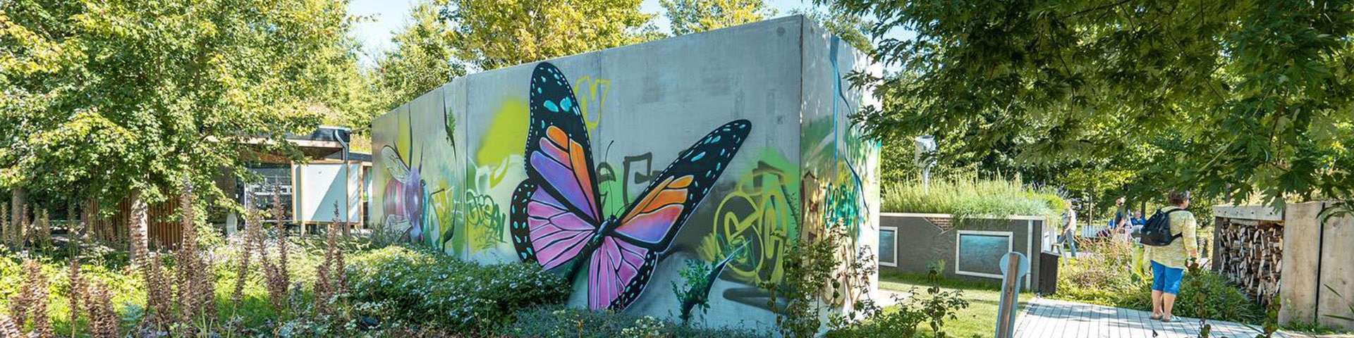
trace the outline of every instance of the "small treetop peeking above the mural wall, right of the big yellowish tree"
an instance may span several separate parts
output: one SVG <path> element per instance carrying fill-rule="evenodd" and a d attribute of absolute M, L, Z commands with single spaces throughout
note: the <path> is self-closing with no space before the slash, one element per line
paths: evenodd
<path fill-rule="evenodd" d="M 776 15 L 762 0 L 661 0 L 673 35 L 760 22 Z"/>

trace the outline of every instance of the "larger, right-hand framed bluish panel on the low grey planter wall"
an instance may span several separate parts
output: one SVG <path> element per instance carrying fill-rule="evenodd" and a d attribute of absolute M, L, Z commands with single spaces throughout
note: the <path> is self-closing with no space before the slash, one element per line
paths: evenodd
<path fill-rule="evenodd" d="M 956 274 L 1002 277 L 999 262 L 1011 251 L 1011 231 L 959 230 L 955 237 Z"/>

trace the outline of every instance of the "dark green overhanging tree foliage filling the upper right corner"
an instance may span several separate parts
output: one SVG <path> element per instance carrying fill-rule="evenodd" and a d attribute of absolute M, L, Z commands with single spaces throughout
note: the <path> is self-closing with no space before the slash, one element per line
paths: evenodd
<path fill-rule="evenodd" d="M 1154 197 L 1186 188 L 1278 206 L 1354 192 L 1350 1 L 833 5 L 877 19 L 876 55 L 900 69 L 865 126 L 933 134 L 942 162 L 1131 170 L 1127 187 Z"/>

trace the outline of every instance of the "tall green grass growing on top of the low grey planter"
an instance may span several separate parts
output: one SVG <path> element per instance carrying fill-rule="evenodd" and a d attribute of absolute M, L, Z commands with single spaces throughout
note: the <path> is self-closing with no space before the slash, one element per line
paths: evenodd
<path fill-rule="evenodd" d="M 1066 203 L 1045 189 L 1030 189 L 1020 180 L 976 176 L 936 178 L 923 189 L 919 181 L 884 189 L 886 212 L 951 214 L 964 216 L 1057 216 Z"/>

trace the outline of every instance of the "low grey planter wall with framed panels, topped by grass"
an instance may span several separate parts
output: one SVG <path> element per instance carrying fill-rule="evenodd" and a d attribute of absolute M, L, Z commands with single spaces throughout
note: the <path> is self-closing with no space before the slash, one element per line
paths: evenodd
<path fill-rule="evenodd" d="M 926 273 L 929 266 L 944 261 L 946 279 L 995 285 L 1001 281 L 997 270 L 1001 256 L 1018 251 L 1030 260 L 1029 274 L 1021 285 L 1037 289 L 1039 253 L 1051 250 L 1056 239 L 1053 230 L 1045 230 L 1045 222 L 1040 216 L 1007 216 L 969 218 L 955 224 L 948 214 L 884 212 L 880 216 L 880 270 Z"/>

